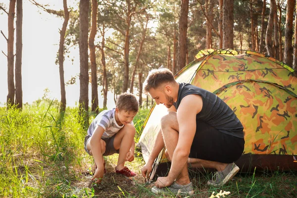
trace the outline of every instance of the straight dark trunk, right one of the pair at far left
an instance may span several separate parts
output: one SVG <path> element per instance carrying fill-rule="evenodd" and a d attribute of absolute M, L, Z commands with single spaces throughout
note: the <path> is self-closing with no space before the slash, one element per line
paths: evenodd
<path fill-rule="evenodd" d="M 16 1 L 16 44 L 15 44 L 15 104 L 23 106 L 22 51 L 23 51 L 23 0 Z"/>

